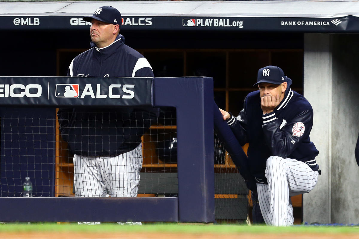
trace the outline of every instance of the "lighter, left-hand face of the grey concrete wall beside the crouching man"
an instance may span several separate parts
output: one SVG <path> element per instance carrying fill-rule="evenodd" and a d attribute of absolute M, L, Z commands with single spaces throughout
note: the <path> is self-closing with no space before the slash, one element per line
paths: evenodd
<path fill-rule="evenodd" d="M 303 195 L 303 221 L 328 223 L 331 218 L 331 37 L 304 35 L 304 97 L 314 111 L 311 141 L 319 150 L 316 158 L 322 175 L 311 193 Z"/>

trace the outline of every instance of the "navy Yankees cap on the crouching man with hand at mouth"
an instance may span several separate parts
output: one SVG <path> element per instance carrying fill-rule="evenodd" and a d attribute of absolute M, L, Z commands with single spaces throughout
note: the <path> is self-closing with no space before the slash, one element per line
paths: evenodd
<path fill-rule="evenodd" d="M 280 85 L 285 81 L 284 79 L 284 72 L 281 68 L 278 66 L 266 66 L 258 70 L 257 83 L 253 86 L 262 82 Z"/>

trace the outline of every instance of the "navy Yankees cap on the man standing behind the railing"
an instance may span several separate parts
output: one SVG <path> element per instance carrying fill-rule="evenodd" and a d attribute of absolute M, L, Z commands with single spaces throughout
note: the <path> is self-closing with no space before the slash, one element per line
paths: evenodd
<path fill-rule="evenodd" d="M 112 6 L 102 6 L 95 10 L 92 16 L 84 16 L 82 18 L 84 21 L 91 22 L 92 19 L 103 21 L 105 23 L 110 23 L 113 25 L 122 25 L 121 13 L 116 8 Z"/>

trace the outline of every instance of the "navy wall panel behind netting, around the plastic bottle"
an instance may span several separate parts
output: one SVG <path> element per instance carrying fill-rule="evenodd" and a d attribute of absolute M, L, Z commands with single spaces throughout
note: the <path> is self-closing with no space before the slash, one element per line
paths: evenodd
<path fill-rule="evenodd" d="M 22 196 L 30 177 L 33 196 L 53 195 L 55 110 L 1 107 L 0 189 L 2 197 Z M 35 176 L 36 175 L 36 176 Z"/>

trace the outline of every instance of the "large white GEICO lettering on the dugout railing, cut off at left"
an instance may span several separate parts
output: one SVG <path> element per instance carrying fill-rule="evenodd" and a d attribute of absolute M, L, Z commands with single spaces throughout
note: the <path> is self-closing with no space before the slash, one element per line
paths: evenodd
<path fill-rule="evenodd" d="M 22 84 L 0 84 L 0 97 L 40 97 L 41 93 L 42 87 L 37 84 L 29 84 L 26 86 Z"/>

